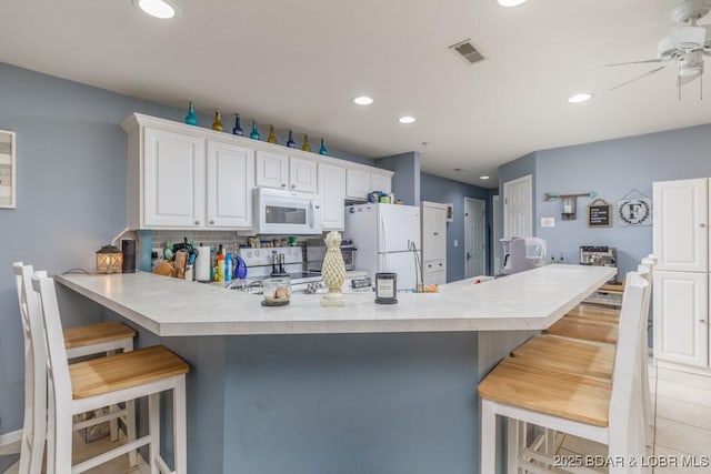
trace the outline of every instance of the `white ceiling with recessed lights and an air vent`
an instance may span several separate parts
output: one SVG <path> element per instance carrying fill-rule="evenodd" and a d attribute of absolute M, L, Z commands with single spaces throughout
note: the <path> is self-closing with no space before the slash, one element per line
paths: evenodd
<path fill-rule="evenodd" d="M 168 21 L 132 0 L 3 2 L 0 61 L 219 108 L 226 129 L 239 112 L 370 158 L 420 151 L 423 171 L 487 188 L 535 150 L 711 122 L 699 81 L 678 99 L 673 68 L 608 91 L 653 69 L 602 64 L 654 58 L 680 0 L 171 1 Z M 468 38 L 485 61 L 448 49 Z M 568 104 L 578 91 L 595 97 Z M 375 102 L 353 104 L 361 93 Z"/>

